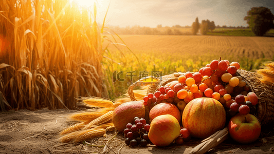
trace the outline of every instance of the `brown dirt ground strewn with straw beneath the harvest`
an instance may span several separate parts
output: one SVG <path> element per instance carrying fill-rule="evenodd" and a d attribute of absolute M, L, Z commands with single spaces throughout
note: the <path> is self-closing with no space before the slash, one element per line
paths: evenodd
<path fill-rule="evenodd" d="M 104 150 L 104 153 L 189 153 L 200 142 L 192 140 L 181 146 L 173 144 L 165 148 L 153 145 L 131 148 L 124 144 L 122 133 L 113 138 L 116 132 L 111 132 L 106 137 L 88 141 L 102 147 L 64 144 L 57 139 L 59 132 L 71 124 L 66 117 L 73 112 L 76 111 L 43 109 L 0 112 L 0 153 L 102 153 Z M 248 145 L 227 139 L 207 153 L 274 153 L 274 129 L 267 128 L 264 132 L 261 137 L 267 139 L 267 143 L 260 142 L 261 137 Z M 111 138 L 108 146 L 103 147 Z"/>

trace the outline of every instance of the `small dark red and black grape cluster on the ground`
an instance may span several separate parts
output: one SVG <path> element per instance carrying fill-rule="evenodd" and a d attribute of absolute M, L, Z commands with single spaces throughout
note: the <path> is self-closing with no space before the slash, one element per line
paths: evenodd
<path fill-rule="evenodd" d="M 145 119 L 138 117 L 134 118 L 134 124 L 126 124 L 124 129 L 125 144 L 131 145 L 132 147 L 141 145 L 142 147 L 147 146 L 149 142 L 148 132 L 150 125 L 147 124 Z"/>

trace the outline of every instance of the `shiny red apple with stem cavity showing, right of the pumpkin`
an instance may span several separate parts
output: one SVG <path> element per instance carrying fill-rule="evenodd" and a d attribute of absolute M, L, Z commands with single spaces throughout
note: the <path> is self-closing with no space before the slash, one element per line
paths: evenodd
<path fill-rule="evenodd" d="M 251 143 L 257 140 L 261 133 L 261 124 L 252 114 L 232 117 L 228 124 L 230 137 L 239 143 Z"/>

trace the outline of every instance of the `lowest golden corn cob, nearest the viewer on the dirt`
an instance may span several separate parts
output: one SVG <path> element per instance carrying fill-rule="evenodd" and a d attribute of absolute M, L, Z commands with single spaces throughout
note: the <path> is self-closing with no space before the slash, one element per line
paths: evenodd
<path fill-rule="evenodd" d="M 82 130 L 76 134 L 75 142 L 81 142 L 87 139 L 92 139 L 95 137 L 100 137 L 105 134 L 104 128 L 98 128 L 98 129 L 87 129 Z"/>

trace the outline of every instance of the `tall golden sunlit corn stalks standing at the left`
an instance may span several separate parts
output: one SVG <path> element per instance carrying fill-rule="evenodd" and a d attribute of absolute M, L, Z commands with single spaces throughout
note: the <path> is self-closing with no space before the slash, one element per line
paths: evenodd
<path fill-rule="evenodd" d="M 6 108 L 75 109 L 80 96 L 107 97 L 104 25 L 99 28 L 95 19 L 96 5 L 0 1 L 0 91 Z"/>

